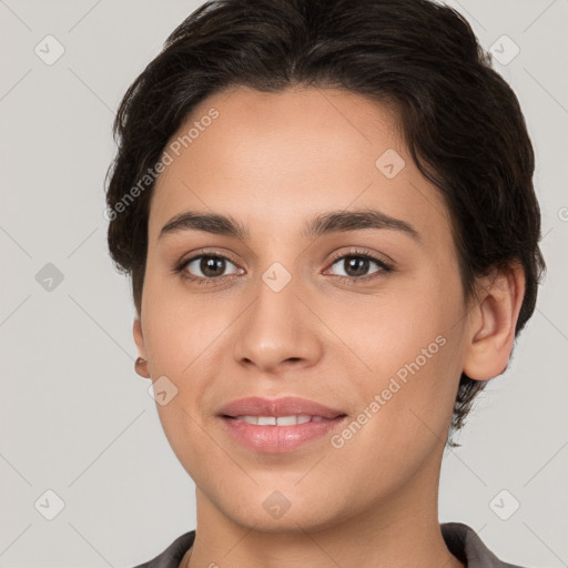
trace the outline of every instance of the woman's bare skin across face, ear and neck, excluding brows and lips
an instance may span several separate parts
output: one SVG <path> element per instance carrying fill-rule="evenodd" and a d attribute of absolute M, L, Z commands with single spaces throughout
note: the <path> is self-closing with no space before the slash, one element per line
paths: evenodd
<path fill-rule="evenodd" d="M 437 518 L 442 456 L 460 373 L 487 381 L 507 365 L 521 268 L 479 280 L 478 300 L 466 302 L 447 207 L 413 163 L 392 109 L 343 90 L 239 87 L 202 101 L 180 133 L 211 108 L 219 118 L 156 182 L 133 328 L 148 359 L 139 374 L 165 375 L 178 388 L 156 408 L 196 486 L 189 566 L 463 566 Z M 406 162 L 393 179 L 375 165 L 387 149 Z M 387 229 L 301 235 L 316 214 L 359 207 L 404 220 L 419 241 Z M 187 209 L 232 215 L 250 240 L 202 231 L 159 239 Z M 212 285 L 172 270 L 203 247 L 232 258 Z M 365 276 L 348 272 L 351 256 L 332 256 L 355 248 L 395 270 L 371 262 L 365 275 L 375 277 L 357 283 Z M 277 293 L 262 280 L 274 262 L 292 275 Z M 185 273 L 207 277 L 199 262 Z M 341 408 L 351 422 L 437 336 L 445 345 L 342 448 L 326 436 L 256 453 L 216 416 L 243 396 L 290 395 Z M 263 507 L 274 490 L 290 501 L 280 518 Z"/>

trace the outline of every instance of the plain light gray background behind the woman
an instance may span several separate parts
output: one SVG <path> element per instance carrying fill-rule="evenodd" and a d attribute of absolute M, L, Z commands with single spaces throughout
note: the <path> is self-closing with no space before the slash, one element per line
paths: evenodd
<path fill-rule="evenodd" d="M 448 3 L 486 49 L 520 50 L 495 68 L 535 145 L 548 273 L 508 371 L 478 398 L 463 447 L 446 450 L 439 518 L 470 525 L 509 562 L 568 566 L 568 2 Z M 195 528 L 193 481 L 134 373 L 103 181 L 120 99 L 200 4 L 0 0 L 2 568 L 131 567 Z M 64 48 L 51 65 L 34 52 L 48 34 Z M 48 263 L 62 276 L 51 290 Z"/>

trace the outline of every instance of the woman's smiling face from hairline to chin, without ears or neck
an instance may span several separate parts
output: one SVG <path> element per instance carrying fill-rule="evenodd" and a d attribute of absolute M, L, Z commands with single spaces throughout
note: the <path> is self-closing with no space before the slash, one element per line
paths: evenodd
<path fill-rule="evenodd" d="M 194 122 L 191 143 L 175 144 Z M 169 148 L 134 338 L 166 392 L 158 412 L 197 509 L 280 531 L 432 504 L 467 318 L 447 209 L 394 111 L 339 90 L 236 88 L 202 101 Z M 190 222 L 161 234 L 190 211 L 246 234 Z M 325 222 L 361 211 L 375 222 Z M 339 417 L 255 426 L 220 415 L 250 396 Z"/>

